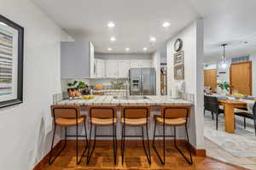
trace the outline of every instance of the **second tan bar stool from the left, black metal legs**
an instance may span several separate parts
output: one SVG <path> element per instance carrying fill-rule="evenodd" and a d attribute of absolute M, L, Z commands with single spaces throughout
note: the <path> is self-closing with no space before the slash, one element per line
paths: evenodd
<path fill-rule="evenodd" d="M 89 105 L 89 117 L 90 117 L 90 139 L 91 139 L 91 130 L 94 126 L 94 144 L 93 148 L 90 151 L 90 139 L 87 155 L 87 164 L 90 162 L 90 157 L 95 150 L 96 146 L 96 137 L 113 137 L 113 159 L 114 164 L 116 164 L 117 157 L 117 139 L 116 139 L 116 122 L 117 122 L 117 106 L 116 105 Z M 112 126 L 113 134 L 112 135 L 97 135 L 96 127 L 97 126 Z"/>

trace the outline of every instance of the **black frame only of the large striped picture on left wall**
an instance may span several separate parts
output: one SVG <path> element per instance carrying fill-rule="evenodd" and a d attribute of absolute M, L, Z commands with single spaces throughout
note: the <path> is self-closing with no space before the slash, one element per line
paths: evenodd
<path fill-rule="evenodd" d="M 17 105 L 23 102 L 23 58 L 24 58 L 24 28 L 19 26 L 12 20 L 7 19 L 0 14 L 0 22 L 12 27 L 18 31 L 18 47 L 17 47 L 17 94 L 15 99 L 9 99 L 0 102 L 0 108 L 10 105 Z"/>

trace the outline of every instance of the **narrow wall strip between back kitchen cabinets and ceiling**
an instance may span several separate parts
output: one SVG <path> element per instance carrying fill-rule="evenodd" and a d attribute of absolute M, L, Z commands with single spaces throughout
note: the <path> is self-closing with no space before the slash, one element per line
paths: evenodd
<path fill-rule="evenodd" d="M 96 54 L 95 58 L 107 60 L 151 60 L 151 54 Z"/>

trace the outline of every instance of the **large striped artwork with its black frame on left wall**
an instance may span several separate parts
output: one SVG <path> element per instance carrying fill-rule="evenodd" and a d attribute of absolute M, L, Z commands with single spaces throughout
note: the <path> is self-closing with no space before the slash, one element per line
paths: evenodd
<path fill-rule="evenodd" d="M 23 101 L 24 28 L 0 14 L 0 107 Z"/>

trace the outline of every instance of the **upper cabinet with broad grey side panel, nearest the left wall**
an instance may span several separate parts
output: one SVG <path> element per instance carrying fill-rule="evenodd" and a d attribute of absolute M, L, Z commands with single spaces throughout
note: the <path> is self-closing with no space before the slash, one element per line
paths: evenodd
<path fill-rule="evenodd" d="M 91 42 L 61 42 L 61 78 L 88 78 L 94 74 Z"/>

